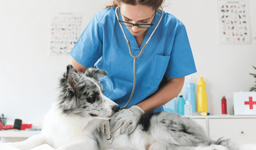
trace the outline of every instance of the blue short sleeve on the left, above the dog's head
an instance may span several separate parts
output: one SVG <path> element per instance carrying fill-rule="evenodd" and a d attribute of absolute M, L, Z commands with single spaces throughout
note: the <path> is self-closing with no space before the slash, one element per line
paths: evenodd
<path fill-rule="evenodd" d="M 102 30 L 99 27 L 97 14 L 83 31 L 70 56 L 85 67 L 93 67 L 102 56 Z"/>

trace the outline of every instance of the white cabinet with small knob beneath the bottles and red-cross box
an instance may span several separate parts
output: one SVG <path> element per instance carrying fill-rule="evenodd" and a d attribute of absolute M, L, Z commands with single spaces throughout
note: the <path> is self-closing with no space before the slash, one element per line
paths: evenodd
<path fill-rule="evenodd" d="M 192 116 L 213 140 L 256 144 L 256 116 Z"/>

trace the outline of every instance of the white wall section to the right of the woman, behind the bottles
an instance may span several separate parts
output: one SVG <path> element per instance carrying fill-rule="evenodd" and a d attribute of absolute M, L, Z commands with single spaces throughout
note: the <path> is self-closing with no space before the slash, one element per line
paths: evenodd
<path fill-rule="evenodd" d="M 227 99 L 227 112 L 232 113 L 233 92 L 249 91 L 256 79 L 256 40 L 251 44 L 219 44 L 217 0 L 170 0 L 165 10 L 187 29 L 197 73 L 206 82 L 208 112 L 221 114 L 221 99 Z M 256 37 L 256 1 L 249 0 L 252 36 Z M 195 90 L 197 92 L 197 89 Z"/>

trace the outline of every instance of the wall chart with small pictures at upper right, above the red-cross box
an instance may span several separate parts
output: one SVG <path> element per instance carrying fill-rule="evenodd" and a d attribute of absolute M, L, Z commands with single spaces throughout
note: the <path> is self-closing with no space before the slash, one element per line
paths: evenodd
<path fill-rule="evenodd" d="M 218 1 L 220 43 L 250 44 L 249 1 Z"/>

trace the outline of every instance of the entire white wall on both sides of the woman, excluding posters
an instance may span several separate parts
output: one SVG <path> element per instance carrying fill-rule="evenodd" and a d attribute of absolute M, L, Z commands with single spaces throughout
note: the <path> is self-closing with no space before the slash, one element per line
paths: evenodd
<path fill-rule="evenodd" d="M 83 12 L 86 27 L 109 0 L 0 0 L 0 114 L 42 121 L 55 97 L 58 79 L 71 57 L 49 57 L 50 23 L 54 13 Z M 221 114 L 226 96 L 228 112 L 233 92 L 248 91 L 255 78 L 256 40 L 252 44 L 218 42 L 217 0 L 166 0 L 164 11 L 180 19 L 188 31 L 197 73 L 207 83 L 208 110 Z M 256 36 L 256 1 L 249 0 L 251 29 Z M 197 89 L 196 89 L 197 92 Z"/>

